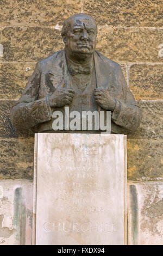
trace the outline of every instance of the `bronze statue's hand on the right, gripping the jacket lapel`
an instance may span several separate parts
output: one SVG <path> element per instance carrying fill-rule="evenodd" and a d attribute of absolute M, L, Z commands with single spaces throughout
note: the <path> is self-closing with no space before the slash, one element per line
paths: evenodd
<path fill-rule="evenodd" d="M 95 100 L 99 106 L 106 110 L 114 111 L 116 106 L 116 100 L 110 96 L 108 90 L 101 87 L 95 89 Z"/>

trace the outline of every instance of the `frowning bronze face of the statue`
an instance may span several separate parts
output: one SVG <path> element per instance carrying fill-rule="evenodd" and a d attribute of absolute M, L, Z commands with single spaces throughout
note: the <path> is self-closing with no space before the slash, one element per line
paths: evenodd
<path fill-rule="evenodd" d="M 75 17 L 66 36 L 66 50 L 70 54 L 91 54 L 96 47 L 96 23 L 91 17 Z"/>

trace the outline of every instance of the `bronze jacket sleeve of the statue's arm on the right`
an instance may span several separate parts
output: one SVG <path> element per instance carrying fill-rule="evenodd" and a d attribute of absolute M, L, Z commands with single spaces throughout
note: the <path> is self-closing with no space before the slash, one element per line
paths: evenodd
<path fill-rule="evenodd" d="M 134 96 L 127 86 L 120 66 L 118 66 L 116 72 L 115 82 L 122 88 L 122 95 L 120 100 L 116 100 L 116 106 L 111 119 L 115 124 L 130 131 L 135 131 L 140 125 L 142 113 L 139 106 L 136 105 Z"/>

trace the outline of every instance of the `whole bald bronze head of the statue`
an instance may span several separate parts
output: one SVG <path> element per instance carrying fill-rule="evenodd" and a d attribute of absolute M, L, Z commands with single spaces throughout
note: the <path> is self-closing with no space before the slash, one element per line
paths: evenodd
<path fill-rule="evenodd" d="M 68 56 L 86 58 L 95 51 L 96 21 L 87 14 L 72 15 L 65 20 L 61 35 Z"/>

